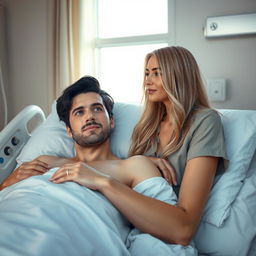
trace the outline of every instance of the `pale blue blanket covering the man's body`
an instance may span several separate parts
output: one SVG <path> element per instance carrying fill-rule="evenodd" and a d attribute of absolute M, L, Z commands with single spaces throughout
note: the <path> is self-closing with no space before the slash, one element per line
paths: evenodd
<path fill-rule="evenodd" d="M 137 229 L 130 232 L 128 221 L 100 193 L 73 182 L 49 182 L 56 169 L 0 192 L 0 255 L 196 255 L 192 246 L 166 245 Z M 176 200 L 160 177 L 135 190 L 168 203 Z"/>

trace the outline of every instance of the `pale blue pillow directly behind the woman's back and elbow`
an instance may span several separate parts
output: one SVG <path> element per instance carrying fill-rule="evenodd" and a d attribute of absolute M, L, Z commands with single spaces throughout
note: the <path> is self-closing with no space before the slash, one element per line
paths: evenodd
<path fill-rule="evenodd" d="M 256 111 L 220 110 L 229 167 L 214 185 L 203 221 L 224 224 L 239 193 L 256 149 Z"/>

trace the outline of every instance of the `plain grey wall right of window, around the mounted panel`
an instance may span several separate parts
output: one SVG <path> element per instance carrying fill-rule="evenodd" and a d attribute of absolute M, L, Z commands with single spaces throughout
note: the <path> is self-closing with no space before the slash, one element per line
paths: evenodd
<path fill-rule="evenodd" d="M 206 39 L 206 17 L 255 13 L 255 0 L 176 0 L 176 44 L 196 57 L 205 79 L 227 79 L 217 108 L 256 109 L 256 35 Z"/>

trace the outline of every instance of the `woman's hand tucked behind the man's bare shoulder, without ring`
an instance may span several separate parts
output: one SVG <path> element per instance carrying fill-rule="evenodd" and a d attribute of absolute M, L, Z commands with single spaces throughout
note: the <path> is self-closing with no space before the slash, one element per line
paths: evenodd
<path fill-rule="evenodd" d="M 166 159 L 153 156 L 148 156 L 148 158 L 156 165 L 162 176 L 168 181 L 169 184 L 175 186 L 177 185 L 175 170 Z"/>

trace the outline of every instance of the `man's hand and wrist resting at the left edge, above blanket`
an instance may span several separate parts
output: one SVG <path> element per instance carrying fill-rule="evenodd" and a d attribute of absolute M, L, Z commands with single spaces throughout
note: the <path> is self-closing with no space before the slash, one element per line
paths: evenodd
<path fill-rule="evenodd" d="M 18 168 L 16 168 L 0 185 L 0 190 L 31 176 L 42 175 L 48 170 L 48 164 L 38 159 L 35 159 L 31 162 L 24 162 Z"/>

